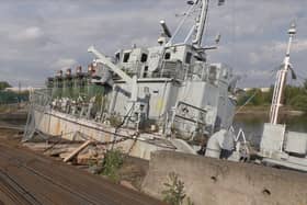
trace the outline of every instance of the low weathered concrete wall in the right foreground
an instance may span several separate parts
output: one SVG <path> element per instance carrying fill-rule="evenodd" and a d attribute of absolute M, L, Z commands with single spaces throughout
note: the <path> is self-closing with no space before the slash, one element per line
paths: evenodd
<path fill-rule="evenodd" d="M 173 151 L 151 153 L 143 191 L 161 198 L 170 172 L 195 205 L 307 204 L 306 173 Z"/>

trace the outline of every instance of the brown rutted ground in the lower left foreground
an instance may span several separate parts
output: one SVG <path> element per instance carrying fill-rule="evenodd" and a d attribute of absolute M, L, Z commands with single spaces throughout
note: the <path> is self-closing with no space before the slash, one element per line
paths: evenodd
<path fill-rule="evenodd" d="M 18 132 L 0 129 L 0 204 L 161 204 L 100 175 L 33 152 L 20 139 Z M 123 179 L 130 179 L 132 173 L 141 175 L 128 160 L 122 171 Z"/>

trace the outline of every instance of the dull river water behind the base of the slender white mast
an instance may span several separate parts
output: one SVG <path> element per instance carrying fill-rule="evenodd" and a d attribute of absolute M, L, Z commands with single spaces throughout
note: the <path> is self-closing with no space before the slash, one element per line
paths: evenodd
<path fill-rule="evenodd" d="M 235 117 L 234 127 L 236 130 L 241 127 L 247 139 L 258 147 L 260 144 L 260 136 L 263 132 L 263 124 L 268 122 L 266 115 L 240 114 Z M 307 115 L 286 115 L 281 118 L 281 123 L 287 125 L 287 130 L 307 133 Z"/>

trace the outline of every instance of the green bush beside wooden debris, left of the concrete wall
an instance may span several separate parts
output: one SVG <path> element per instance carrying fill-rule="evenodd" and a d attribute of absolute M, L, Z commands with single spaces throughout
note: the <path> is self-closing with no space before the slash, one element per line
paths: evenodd
<path fill-rule="evenodd" d="M 123 152 L 120 149 L 109 150 L 103 159 L 102 174 L 111 181 L 118 183 L 121 180 L 118 170 L 124 163 Z"/>

